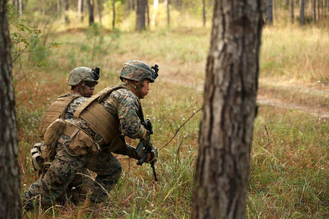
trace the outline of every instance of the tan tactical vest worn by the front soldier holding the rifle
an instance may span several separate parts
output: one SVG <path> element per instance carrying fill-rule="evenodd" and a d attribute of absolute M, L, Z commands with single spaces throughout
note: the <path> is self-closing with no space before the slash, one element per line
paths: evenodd
<path fill-rule="evenodd" d="M 95 141 L 101 147 L 108 145 L 115 137 L 121 134 L 119 131 L 119 124 L 115 121 L 114 117 L 107 109 L 99 104 L 105 96 L 118 88 L 127 87 L 123 85 L 106 87 L 94 96 L 88 98 L 74 113 L 74 119 L 81 118 L 89 124 L 90 129 L 96 134 L 94 138 Z"/>

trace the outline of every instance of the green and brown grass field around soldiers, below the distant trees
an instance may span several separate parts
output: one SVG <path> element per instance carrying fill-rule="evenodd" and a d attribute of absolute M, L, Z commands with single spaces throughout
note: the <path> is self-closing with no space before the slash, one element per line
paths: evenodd
<path fill-rule="evenodd" d="M 118 156 L 121 178 L 97 208 L 112 218 L 190 218 L 209 26 L 140 33 L 45 30 L 40 43 L 47 36 L 60 47 L 23 54 L 13 69 L 14 78 L 21 79 L 15 92 L 22 190 L 37 179 L 29 152 L 38 142 L 39 119 L 57 95 L 69 91 L 70 70 L 100 67 L 97 92 L 120 82 L 123 63 L 141 60 L 160 69 L 142 100 L 153 122 L 153 145 L 160 148 L 159 181 L 149 165 L 139 168 Z M 247 218 L 329 217 L 328 33 L 323 25 L 264 28 Z M 34 67 L 40 61 L 47 65 Z M 77 211 L 66 204 L 23 217 L 75 218 Z"/>

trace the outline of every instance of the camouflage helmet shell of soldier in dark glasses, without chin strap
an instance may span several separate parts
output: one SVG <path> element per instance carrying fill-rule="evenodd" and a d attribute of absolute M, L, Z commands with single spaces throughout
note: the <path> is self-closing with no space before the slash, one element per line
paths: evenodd
<path fill-rule="evenodd" d="M 89 82 L 95 82 L 96 85 L 98 84 L 98 81 L 94 80 L 94 73 L 92 72 L 91 68 L 87 67 L 77 67 L 74 68 L 70 75 L 68 76 L 67 85 L 78 85 L 82 81 L 89 81 Z"/>

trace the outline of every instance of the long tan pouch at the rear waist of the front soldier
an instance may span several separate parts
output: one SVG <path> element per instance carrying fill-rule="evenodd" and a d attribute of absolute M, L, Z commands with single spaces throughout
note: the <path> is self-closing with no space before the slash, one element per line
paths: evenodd
<path fill-rule="evenodd" d="M 42 151 L 42 157 L 55 157 L 56 155 L 56 144 L 58 139 L 60 138 L 63 130 L 65 128 L 65 121 L 63 119 L 56 119 L 53 123 L 51 123 L 46 132 L 44 133 L 44 150 Z"/>

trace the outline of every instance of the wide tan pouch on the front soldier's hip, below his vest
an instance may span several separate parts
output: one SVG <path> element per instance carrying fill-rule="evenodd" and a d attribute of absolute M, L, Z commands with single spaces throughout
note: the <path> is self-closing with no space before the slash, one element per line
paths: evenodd
<path fill-rule="evenodd" d="M 97 154 L 100 150 L 92 137 L 84 131 L 79 131 L 69 145 L 75 155 Z"/>

